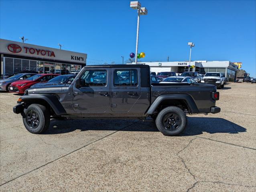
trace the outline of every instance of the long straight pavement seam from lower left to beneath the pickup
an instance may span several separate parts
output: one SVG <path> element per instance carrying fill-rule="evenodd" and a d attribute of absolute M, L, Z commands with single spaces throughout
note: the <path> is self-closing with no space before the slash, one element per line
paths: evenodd
<path fill-rule="evenodd" d="M 140 120 L 139 120 L 139 121 L 140 121 Z M 137 121 L 137 122 L 139 122 L 139 121 Z M 76 150 L 73 150 L 73 151 L 71 151 L 71 152 L 69 152 L 69 153 L 67 153 L 67 154 L 65 154 L 65 155 L 63 155 L 63 156 L 61 156 L 61 157 L 59 157 L 59 158 L 57 158 L 57 159 L 55 159 L 55 160 L 52 160 L 52 161 L 50 161 L 50 162 L 48 162 L 48 163 L 46 163 L 46 164 L 43 164 L 43 165 L 41 165 L 41 166 L 39 166 L 39 167 L 37 167 L 37 168 L 31 170 L 31 171 L 28 171 L 28 172 L 26 172 L 26 173 L 24 173 L 24 174 L 21 174 L 20 176 L 17 176 L 17 177 L 15 177 L 15 178 L 13 178 L 13 179 L 11 179 L 11 180 L 9 180 L 9 181 L 6 181 L 6 182 L 4 182 L 3 184 L 0 184 L 0 186 L 3 186 L 3 185 L 5 185 L 5 184 L 7 184 L 7 183 L 9 183 L 9 182 L 11 182 L 11 181 L 13 181 L 13 180 L 16 180 L 17 178 L 20 178 L 20 177 L 22 177 L 22 176 L 24 176 L 24 175 L 26 175 L 26 174 L 28 174 L 28 173 L 31 173 L 31 172 L 33 172 L 33 171 L 35 171 L 35 170 L 38 170 L 38 169 L 40 169 L 40 168 L 42 168 L 42 167 L 44 167 L 44 166 L 46 166 L 46 165 L 48 165 L 48 164 L 50 164 L 50 163 L 52 163 L 52 162 L 55 162 L 55 161 L 57 161 L 57 160 L 59 160 L 59 159 L 65 157 L 65 156 L 68 156 L 68 155 L 72 154 L 73 152 L 76 152 L 76 151 L 78 151 L 78 150 L 80 150 L 80 149 L 82 149 L 82 148 L 85 148 L 85 147 L 89 146 L 90 144 L 93 144 L 93 143 L 95 143 L 95 142 L 97 142 L 97 141 L 99 141 L 99 140 L 102 140 L 102 139 L 104 139 L 104 138 L 106 138 L 106 137 L 108 137 L 108 136 L 110 136 L 110 135 L 112 135 L 112 134 L 115 134 L 116 132 L 118 132 L 118 131 L 120 131 L 120 130 L 123 130 L 123 129 L 129 127 L 129 126 L 132 126 L 133 124 L 136 124 L 137 122 L 134 122 L 134 123 L 132 123 L 132 124 L 130 124 L 130 125 L 128 125 L 128 126 L 125 126 L 125 127 L 121 128 L 121 129 L 119 129 L 119 130 L 117 130 L 117 131 L 114 131 L 114 132 L 112 132 L 112 133 L 110 133 L 110 134 L 108 134 L 108 135 L 106 135 L 106 136 L 104 136 L 104 137 L 102 137 L 102 138 L 100 138 L 100 139 L 98 139 L 98 140 L 95 140 L 95 141 L 93 141 L 93 142 L 91 142 L 91 143 L 89 143 L 89 144 L 86 144 L 85 146 L 82 146 L 82 147 L 80 147 L 80 148 L 77 148 Z"/>

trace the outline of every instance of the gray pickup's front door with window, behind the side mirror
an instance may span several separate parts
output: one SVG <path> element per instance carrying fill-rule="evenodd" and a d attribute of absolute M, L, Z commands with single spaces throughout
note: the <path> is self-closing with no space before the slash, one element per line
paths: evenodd
<path fill-rule="evenodd" d="M 85 85 L 73 87 L 73 109 L 84 115 L 106 112 L 110 108 L 110 68 L 88 68 L 80 78 Z"/>

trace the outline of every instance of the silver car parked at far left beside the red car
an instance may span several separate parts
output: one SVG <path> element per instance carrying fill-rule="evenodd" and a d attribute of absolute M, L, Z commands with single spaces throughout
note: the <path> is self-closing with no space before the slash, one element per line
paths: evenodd
<path fill-rule="evenodd" d="M 10 86 L 10 84 L 14 81 L 18 81 L 18 80 L 24 80 L 26 78 L 29 78 L 33 75 L 35 75 L 36 73 L 19 73 L 16 74 L 14 76 L 11 76 L 7 79 L 0 79 L 0 91 L 9 91 L 8 87 Z"/>

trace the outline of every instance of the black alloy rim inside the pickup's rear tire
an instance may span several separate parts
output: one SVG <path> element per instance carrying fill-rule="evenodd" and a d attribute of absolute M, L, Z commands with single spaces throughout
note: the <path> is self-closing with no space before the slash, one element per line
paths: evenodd
<path fill-rule="evenodd" d="M 163 118 L 165 129 L 176 131 L 181 127 L 181 118 L 176 113 L 169 113 Z"/>

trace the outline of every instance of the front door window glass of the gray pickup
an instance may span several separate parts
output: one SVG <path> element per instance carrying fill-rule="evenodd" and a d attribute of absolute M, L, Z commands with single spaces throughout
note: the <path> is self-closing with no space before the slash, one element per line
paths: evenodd
<path fill-rule="evenodd" d="M 85 70 L 81 79 L 85 81 L 85 86 L 106 86 L 106 70 Z"/>

